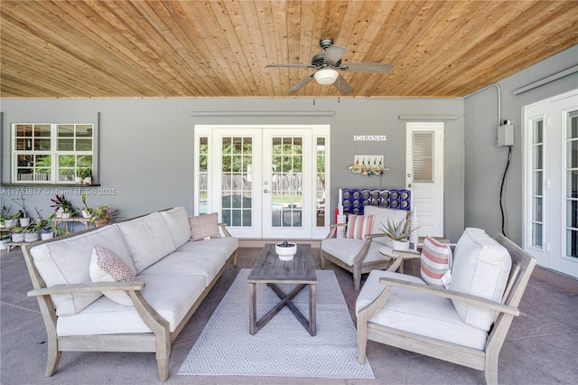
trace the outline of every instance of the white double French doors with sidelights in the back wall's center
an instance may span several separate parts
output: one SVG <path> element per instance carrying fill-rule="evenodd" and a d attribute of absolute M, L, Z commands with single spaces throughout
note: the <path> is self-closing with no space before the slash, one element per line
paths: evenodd
<path fill-rule="evenodd" d="M 195 213 L 219 212 L 238 238 L 326 234 L 329 127 L 197 126 L 195 140 Z"/>

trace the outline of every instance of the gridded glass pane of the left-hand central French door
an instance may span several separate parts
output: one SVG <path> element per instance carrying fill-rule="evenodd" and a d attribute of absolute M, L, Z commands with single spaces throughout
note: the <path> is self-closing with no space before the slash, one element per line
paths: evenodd
<path fill-rule="evenodd" d="M 250 227 L 252 223 L 253 140 L 229 136 L 221 141 L 222 218 L 231 226 Z"/>

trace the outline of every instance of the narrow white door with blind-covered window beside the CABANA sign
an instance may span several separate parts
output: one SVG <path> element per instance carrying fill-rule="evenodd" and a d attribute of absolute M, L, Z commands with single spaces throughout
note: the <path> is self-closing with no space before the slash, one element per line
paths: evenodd
<path fill-rule="evenodd" d="M 420 237 L 443 237 L 443 123 L 406 123 L 406 186 Z"/>

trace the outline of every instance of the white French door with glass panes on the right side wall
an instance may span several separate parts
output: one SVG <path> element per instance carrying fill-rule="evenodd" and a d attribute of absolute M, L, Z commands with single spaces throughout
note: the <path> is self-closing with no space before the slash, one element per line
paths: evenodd
<path fill-rule="evenodd" d="M 524 108 L 524 249 L 578 277 L 578 91 Z"/>

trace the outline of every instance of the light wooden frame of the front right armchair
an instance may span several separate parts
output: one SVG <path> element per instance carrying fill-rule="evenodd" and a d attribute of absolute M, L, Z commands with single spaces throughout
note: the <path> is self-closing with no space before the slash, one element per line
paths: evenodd
<path fill-rule="evenodd" d="M 509 255 L 512 258 L 512 268 L 502 303 L 439 287 L 417 285 L 399 279 L 381 277 L 379 281 L 387 285 L 386 288 L 378 298 L 362 309 L 358 315 L 357 340 L 359 363 L 364 363 L 366 360 L 367 343 L 369 340 L 484 371 L 486 382 L 488 384 L 497 384 L 499 352 L 504 344 L 514 316 L 520 313 L 517 306 L 526 290 L 532 270 L 536 266 L 536 258 L 533 258 L 526 251 L 520 249 L 514 242 L 501 234 L 499 234 L 497 240 L 508 249 Z M 497 315 L 494 324 L 492 324 L 489 329 L 488 340 L 486 341 L 484 349 L 473 349 L 371 323 L 369 319 L 386 304 L 387 298 L 394 287 L 402 287 L 407 290 L 420 291 L 433 296 L 451 298 L 452 300 L 495 310 Z M 424 325 L 424 327 L 425 326 L 426 325 Z"/>

